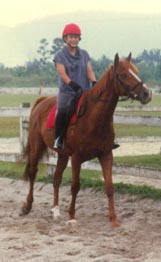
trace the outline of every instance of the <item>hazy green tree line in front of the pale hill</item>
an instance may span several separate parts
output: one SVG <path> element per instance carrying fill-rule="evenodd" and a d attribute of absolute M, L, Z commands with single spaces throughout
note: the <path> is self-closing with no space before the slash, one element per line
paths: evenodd
<path fill-rule="evenodd" d="M 53 63 L 53 56 L 63 46 L 64 41 L 62 38 L 53 39 L 51 47 L 48 40 L 42 38 L 37 50 L 38 58 L 33 61 L 27 61 L 25 65 L 14 68 L 5 67 L 4 64 L 0 63 L 0 86 L 57 86 L 57 73 Z M 150 84 L 158 84 L 161 81 L 160 61 L 160 49 L 145 49 L 139 56 L 133 57 L 133 62 L 138 67 L 140 78 Z M 98 60 L 91 58 L 97 80 L 100 79 L 112 62 L 113 60 L 104 54 Z"/>

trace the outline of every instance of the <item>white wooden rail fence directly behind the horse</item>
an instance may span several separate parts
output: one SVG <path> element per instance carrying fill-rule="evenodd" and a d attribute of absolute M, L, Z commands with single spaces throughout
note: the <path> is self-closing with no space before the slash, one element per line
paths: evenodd
<path fill-rule="evenodd" d="M 24 152 L 24 147 L 26 145 L 27 141 L 27 135 L 28 135 L 28 119 L 30 114 L 30 105 L 29 103 L 24 103 L 20 107 L 1 107 L 0 108 L 0 117 L 19 117 L 20 119 L 20 154 L 2 154 L 0 153 L 0 161 L 7 161 L 7 162 L 19 162 L 22 161 L 21 157 Z M 154 116 L 138 116 L 138 115 L 126 115 L 126 114 L 119 114 L 119 111 L 124 111 L 125 108 L 117 108 L 116 113 L 114 114 L 114 123 L 118 124 L 128 124 L 128 125 L 145 125 L 145 126 L 161 126 L 161 116 L 160 117 L 154 117 Z M 125 111 L 161 111 L 161 107 L 133 107 L 133 108 L 126 108 Z M 51 174 L 53 173 L 53 169 L 55 168 L 57 157 L 56 153 L 51 152 L 49 150 L 49 156 L 44 157 L 42 159 L 43 163 L 46 163 L 48 165 L 47 173 Z M 70 166 L 69 162 L 69 166 Z M 91 170 L 101 170 L 100 165 L 93 161 L 85 162 L 82 165 L 82 168 L 84 169 L 91 169 Z M 121 165 L 114 165 L 113 171 L 115 173 L 124 173 L 124 174 L 145 174 L 147 176 L 147 172 L 145 168 L 139 168 L 139 167 L 129 167 L 129 166 L 121 166 Z M 153 178 L 160 178 L 161 179 L 161 171 L 160 170 L 153 170 L 148 169 L 148 174 Z"/>

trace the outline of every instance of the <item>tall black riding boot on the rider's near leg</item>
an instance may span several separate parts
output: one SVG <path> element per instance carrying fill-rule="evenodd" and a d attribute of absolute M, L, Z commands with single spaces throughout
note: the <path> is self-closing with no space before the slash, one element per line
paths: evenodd
<path fill-rule="evenodd" d="M 63 149 L 64 147 L 64 134 L 65 134 L 65 122 L 66 112 L 57 112 L 55 121 L 55 132 L 54 132 L 54 148 Z"/>

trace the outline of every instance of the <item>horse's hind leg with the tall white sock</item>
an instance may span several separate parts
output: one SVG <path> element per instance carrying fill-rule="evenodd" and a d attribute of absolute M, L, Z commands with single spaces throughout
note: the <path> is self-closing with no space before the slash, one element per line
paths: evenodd
<path fill-rule="evenodd" d="M 62 175 L 63 171 L 67 166 L 68 163 L 68 156 L 60 156 L 58 155 L 58 161 L 56 165 L 56 169 L 54 172 L 53 177 L 53 188 L 54 188 L 54 201 L 53 201 L 53 217 L 54 219 L 58 219 L 60 217 L 60 210 L 59 210 L 59 187 L 62 182 Z"/>

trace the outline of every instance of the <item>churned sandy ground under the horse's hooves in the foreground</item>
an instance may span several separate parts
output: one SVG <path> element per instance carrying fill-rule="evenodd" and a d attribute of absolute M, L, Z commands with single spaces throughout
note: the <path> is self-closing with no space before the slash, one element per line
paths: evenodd
<path fill-rule="evenodd" d="M 35 185 L 31 213 L 19 216 L 28 183 L 0 178 L 0 261 L 160 262 L 161 202 L 115 194 L 119 228 L 108 220 L 104 193 L 81 190 L 77 224 L 66 224 L 70 188 L 60 193 L 61 221 L 51 215 L 52 185 Z"/>

